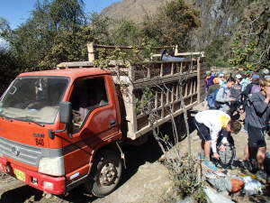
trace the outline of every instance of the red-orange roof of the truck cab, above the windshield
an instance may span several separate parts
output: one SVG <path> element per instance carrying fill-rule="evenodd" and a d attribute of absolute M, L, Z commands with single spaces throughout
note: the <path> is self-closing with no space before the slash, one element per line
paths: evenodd
<path fill-rule="evenodd" d="M 76 69 L 51 69 L 43 71 L 25 72 L 19 75 L 19 77 L 27 76 L 59 76 L 69 78 L 80 78 L 85 76 L 95 76 L 109 74 L 109 70 L 100 68 L 76 68 Z"/>

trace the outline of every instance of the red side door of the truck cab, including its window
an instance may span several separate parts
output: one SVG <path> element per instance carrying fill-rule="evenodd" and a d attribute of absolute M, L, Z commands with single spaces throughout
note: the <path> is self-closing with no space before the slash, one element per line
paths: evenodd
<path fill-rule="evenodd" d="M 73 137 L 64 152 L 67 180 L 78 169 L 88 169 L 93 150 L 119 134 L 112 90 L 106 76 L 79 78 L 70 97 L 73 109 Z M 84 170 L 82 170 L 84 171 Z M 72 176 L 73 177 L 73 176 Z"/>

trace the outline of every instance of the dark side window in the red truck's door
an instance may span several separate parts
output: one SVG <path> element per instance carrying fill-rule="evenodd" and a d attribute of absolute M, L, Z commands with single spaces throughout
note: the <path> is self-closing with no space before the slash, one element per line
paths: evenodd
<path fill-rule="evenodd" d="M 76 133 L 85 123 L 85 118 L 91 111 L 108 105 L 104 78 L 78 79 L 70 101 L 73 110 L 73 127 Z"/>

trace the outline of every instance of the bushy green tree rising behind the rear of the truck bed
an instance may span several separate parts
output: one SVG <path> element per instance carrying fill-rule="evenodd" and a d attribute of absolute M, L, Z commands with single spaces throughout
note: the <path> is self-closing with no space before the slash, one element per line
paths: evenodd
<path fill-rule="evenodd" d="M 189 33 L 200 25 L 198 12 L 184 4 L 183 0 L 173 0 L 158 9 L 158 14 L 147 15 L 143 23 L 143 34 L 158 45 L 178 44 L 186 50 Z"/>

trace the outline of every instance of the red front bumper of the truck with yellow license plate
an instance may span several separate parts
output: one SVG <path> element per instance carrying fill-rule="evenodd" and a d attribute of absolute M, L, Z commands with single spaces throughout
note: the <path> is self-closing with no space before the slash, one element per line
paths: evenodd
<path fill-rule="evenodd" d="M 41 174 L 37 171 L 30 171 L 6 161 L 3 157 L 0 158 L 0 171 L 14 176 L 18 180 L 22 180 L 33 188 L 40 189 L 51 194 L 61 195 L 66 191 L 65 177 L 52 177 Z"/>

